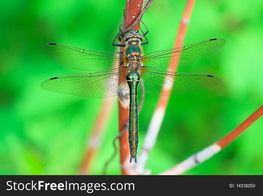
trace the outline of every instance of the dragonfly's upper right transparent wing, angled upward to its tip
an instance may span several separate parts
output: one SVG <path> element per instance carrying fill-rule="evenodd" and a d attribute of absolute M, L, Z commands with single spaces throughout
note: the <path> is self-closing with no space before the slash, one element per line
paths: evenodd
<path fill-rule="evenodd" d="M 149 53 L 143 55 L 141 61 L 146 67 L 183 67 L 210 55 L 225 43 L 221 38 L 208 39 L 188 46 Z"/>

